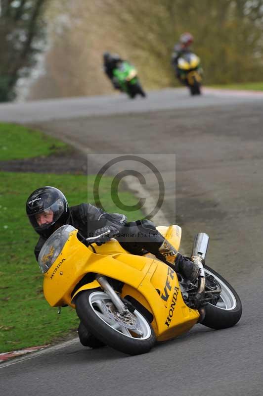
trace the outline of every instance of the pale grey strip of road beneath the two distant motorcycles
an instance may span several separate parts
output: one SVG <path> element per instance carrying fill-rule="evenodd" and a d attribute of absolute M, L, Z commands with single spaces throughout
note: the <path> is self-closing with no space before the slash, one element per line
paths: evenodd
<path fill-rule="evenodd" d="M 47 99 L 32 102 L 3 103 L 0 120 L 15 122 L 50 121 L 92 115 L 143 113 L 169 109 L 206 107 L 234 103 L 262 103 L 263 92 L 203 89 L 201 97 L 189 96 L 185 88 L 167 88 L 149 92 L 146 99 L 129 99 L 127 95 L 107 95 L 84 98 Z"/>

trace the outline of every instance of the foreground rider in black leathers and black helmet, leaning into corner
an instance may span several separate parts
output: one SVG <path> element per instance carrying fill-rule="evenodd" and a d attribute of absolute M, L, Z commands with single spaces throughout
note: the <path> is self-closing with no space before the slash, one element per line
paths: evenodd
<path fill-rule="evenodd" d="M 35 190 L 27 199 L 26 212 L 29 220 L 40 235 L 35 247 L 38 260 L 41 248 L 47 238 L 64 224 L 71 224 L 78 229 L 80 241 L 110 231 L 107 236 L 96 240 L 101 245 L 116 238 L 121 246 L 132 254 L 141 255 L 146 251 L 171 266 L 184 279 L 195 281 L 199 268 L 189 259 L 183 257 L 155 228 L 150 220 L 127 222 L 127 217 L 119 213 L 107 213 L 90 203 L 68 206 L 67 199 L 54 187 Z M 88 332 L 79 327 L 80 341 L 86 345 Z"/>

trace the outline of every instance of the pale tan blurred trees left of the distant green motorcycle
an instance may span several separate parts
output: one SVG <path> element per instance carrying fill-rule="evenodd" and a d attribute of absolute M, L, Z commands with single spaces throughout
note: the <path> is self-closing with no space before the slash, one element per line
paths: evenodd
<path fill-rule="evenodd" d="M 52 0 L 47 11 L 49 49 L 45 73 L 31 86 L 27 99 L 99 95 L 112 92 L 102 67 L 105 50 L 120 52 L 122 31 L 112 27 L 102 1 Z"/>

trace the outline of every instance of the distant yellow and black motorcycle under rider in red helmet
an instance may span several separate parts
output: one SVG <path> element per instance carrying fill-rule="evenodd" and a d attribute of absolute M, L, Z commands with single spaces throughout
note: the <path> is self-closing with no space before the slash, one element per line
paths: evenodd
<path fill-rule="evenodd" d="M 189 88 L 190 94 L 200 95 L 202 82 L 200 58 L 192 52 L 186 52 L 178 58 L 176 68 L 179 80 Z"/>

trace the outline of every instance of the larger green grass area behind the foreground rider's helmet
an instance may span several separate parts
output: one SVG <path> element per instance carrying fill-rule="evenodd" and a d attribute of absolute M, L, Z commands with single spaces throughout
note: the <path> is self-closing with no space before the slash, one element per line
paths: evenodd
<path fill-rule="evenodd" d="M 0 172 L 0 352 L 45 345 L 77 329 L 74 309 L 62 308 L 57 315 L 44 299 L 43 275 L 34 256 L 38 235 L 26 217 L 25 202 L 36 188 L 51 185 L 71 206 L 87 199 L 92 203 L 93 181 L 93 176 Z M 110 198 L 111 182 L 103 177 L 101 202 L 107 211 L 120 212 Z M 119 197 L 127 205 L 137 201 L 128 192 Z M 142 217 L 140 211 L 125 214 L 129 220 Z"/>

